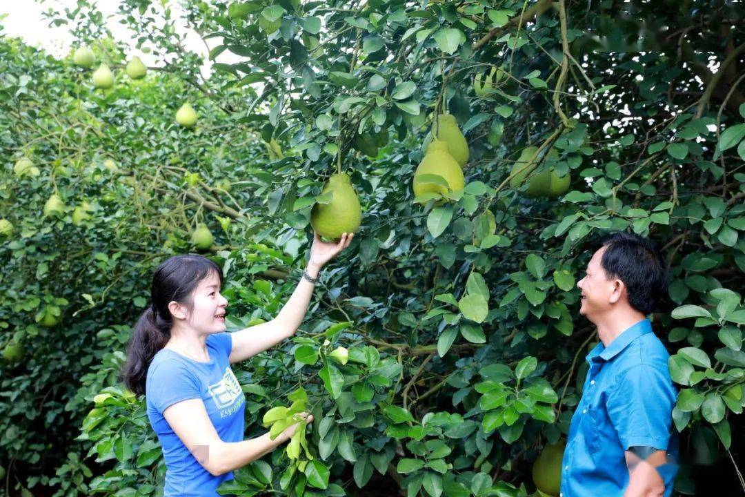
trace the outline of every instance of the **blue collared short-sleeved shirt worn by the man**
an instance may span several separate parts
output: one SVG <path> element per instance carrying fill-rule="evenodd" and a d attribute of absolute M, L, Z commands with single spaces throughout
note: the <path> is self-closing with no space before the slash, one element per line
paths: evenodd
<path fill-rule="evenodd" d="M 677 469 L 672 412 L 678 393 L 668 357 L 647 319 L 587 355 L 590 367 L 562 461 L 561 497 L 623 495 L 629 483 L 624 451 L 632 446 L 668 452 L 669 463 L 657 470 L 665 497 L 671 495 Z"/>

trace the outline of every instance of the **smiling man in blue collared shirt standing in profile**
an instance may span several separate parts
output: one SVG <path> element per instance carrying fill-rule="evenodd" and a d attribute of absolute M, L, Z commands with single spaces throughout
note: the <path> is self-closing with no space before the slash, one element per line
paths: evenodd
<path fill-rule="evenodd" d="M 562 461 L 561 497 L 668 497 L 677 437 L 677 392 L 668 351 L 650 314 L 667 291 L 665 262 L 646 238 L 610 235 L 577 287 L 580 314 L 600 343 L 587 355 L 582 398 L 571 419 Z"/>

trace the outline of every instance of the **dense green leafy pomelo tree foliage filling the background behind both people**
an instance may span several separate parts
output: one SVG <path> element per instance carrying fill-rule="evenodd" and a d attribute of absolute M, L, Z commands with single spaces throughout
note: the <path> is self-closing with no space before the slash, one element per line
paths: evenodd
<path fill-rule="evenodd" d="M 680 389 L 673 421 L 689 464 L 676 490 L 694 494 L 712 476 L 745 488 L 732 444 L 745 405 L 745 34 L 734 7 L 182 4 L 121 1 L 138 48 L 159 60 L 142 80 L 124 75 L 129 55 L 92 2 L 50 14 L 93 49 L 93 69 L 112 69 L 112 89 L 95 89 L 72 53 L 0 41 L 0 218 L 12 224 L 0 235 L 0 344 L 22 352 L 0 362 L 5 489 L 157 495 L 159 445 L 144 402 L 117 379 L 153 268 L 196 250 L 190 233 L 206 223 L 229 327 L 271 319 L 339 168 L 361 199 L 360 232 L 324 271 L 297 335 L 234 367 L 246 436 L 268 409 L 307 397 L 308 452 L 273 452 L 226 492 L 533 492 L 530 467 L 567 433 L 597 342 L 574 285 L 618 229 L 653 238 L 671 268 L 652 320 Z M 179 16 L 222 40 L 212 59 L 241 60 L 200 77 Z M 475 88 L 493 67 L 497 85 Z M 191 128 L 174 123 L 185 102 Z M 445 111 L 470 159 L 466 188 L 441 203 L 410 186 Z M 536 173 L 571 174 L 568 193 L 530 198 L 510 184 L 531 146 Z M 23 158 L 39 174 L 17 174 Z M 63 212 L 42 215 L 52 194 Z M 83 202 L 89 217 L 75 218 Z M 329 358 L 336 346 L 349 361 Z"/>

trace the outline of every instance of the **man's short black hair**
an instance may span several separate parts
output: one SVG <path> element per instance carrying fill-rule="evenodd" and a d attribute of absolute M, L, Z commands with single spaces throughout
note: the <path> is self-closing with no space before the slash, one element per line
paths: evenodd
<path fill-rule="evenodd" d="M 630 306 L 650 314 L 668 291 L 668 269 L 653 242 L 619 231 L 604 238 L 603 247 L 600 265 L 608 278 L 624 282 Z"/>

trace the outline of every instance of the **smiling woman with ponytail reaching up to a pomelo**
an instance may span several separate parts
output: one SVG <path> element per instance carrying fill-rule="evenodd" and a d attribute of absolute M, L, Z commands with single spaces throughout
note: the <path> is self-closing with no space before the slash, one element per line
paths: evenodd
<path fill-rule="evenodd" d="M 232 471 L 285 443 L 299 423 L 274 440 L 269 432 L 243 440 L 245 398 L 230 364 L 244 361 L 294 335 L 302 323 L 318 273 L 349 246 L 317 233 L 308 267 L 292 296 L 268 323 L 225 332 L 227 300 L 221 268 L 201 256 L 163 262 L 150 287 L 153 304 L 137 321 L 127 348 L 124 383 L 145 394 L 148 418 L 167 468 L 164 496 L 218 496 Z M 312 416 L 305 416 L 312 422 Z"/>

